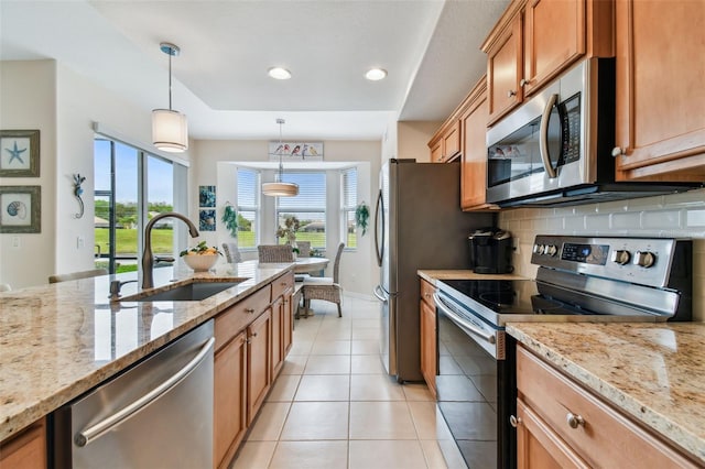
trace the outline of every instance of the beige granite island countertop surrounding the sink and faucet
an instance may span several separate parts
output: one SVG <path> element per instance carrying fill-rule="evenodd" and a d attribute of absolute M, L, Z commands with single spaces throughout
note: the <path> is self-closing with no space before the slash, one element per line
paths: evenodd
<path fill-rule="evenodd" d="M 247 279 L 200 302 L 110 303 L 110 281 L 135 280 L 137 272 L 0 293 L 0 440 L 291 269 L 248 261 L 204 273 L 154 270 L 155 290 L 194 277 Z M 122 286 L 124 297 L 138 291 L 137 283 Z"/>

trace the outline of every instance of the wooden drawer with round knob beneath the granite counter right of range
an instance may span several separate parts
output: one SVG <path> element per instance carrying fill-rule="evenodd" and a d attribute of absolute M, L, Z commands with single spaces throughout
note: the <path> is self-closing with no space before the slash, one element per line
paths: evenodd
<path fill-rule="evenodd" d="M 696 467 L 521 347 L 517 348 L 517 388 L 519 399 L 593 467 Z"/>

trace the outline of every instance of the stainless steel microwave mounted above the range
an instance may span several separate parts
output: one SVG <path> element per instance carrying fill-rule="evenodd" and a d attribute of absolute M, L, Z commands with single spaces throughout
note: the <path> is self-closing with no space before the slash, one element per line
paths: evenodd
<path fill-rule="evenodd" d="M 615 181 L 615 59 L 584 59 L 487 131 L 487 201 L 561 206 L 671 194 Z"/>

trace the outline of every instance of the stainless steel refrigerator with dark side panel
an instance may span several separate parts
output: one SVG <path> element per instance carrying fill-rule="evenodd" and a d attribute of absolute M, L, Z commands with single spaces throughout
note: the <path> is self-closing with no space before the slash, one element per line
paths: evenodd
<path fill-rule="evenodd" d="M 399 382 L 421 381 L 420 269 L 468 269 L 468 236 L 495 215 L 460 210 L 460 164 L 390 160 L 380 172 L 375 244 L 381 356 Z"/>

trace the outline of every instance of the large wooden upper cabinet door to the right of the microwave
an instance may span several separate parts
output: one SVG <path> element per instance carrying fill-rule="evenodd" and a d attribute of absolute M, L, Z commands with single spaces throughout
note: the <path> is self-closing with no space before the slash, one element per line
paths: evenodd
<path fill-rule="evenodd" d="M 703 181 L 703 24 L 701 1 L 617 1 L 618 179 Z"/>

